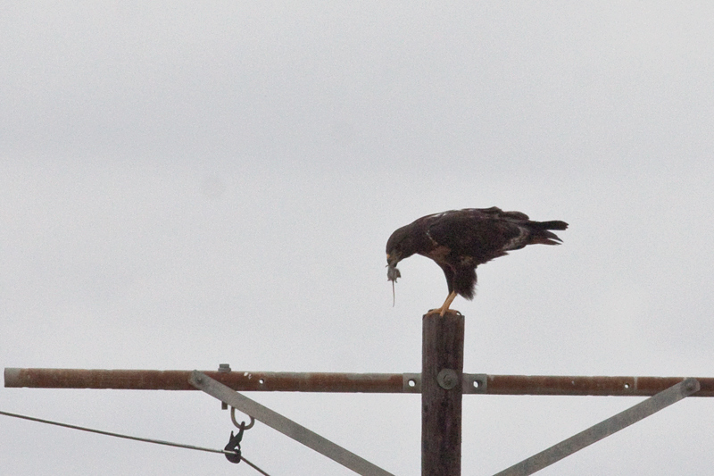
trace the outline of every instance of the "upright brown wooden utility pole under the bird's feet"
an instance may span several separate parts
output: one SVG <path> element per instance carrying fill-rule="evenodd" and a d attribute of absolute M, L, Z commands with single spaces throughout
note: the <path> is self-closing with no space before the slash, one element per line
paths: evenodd
<path fill-rule="evenodd" d="M 464 318 L 422 318 L 421 474 L 461 475 L 461 395 Z"/>

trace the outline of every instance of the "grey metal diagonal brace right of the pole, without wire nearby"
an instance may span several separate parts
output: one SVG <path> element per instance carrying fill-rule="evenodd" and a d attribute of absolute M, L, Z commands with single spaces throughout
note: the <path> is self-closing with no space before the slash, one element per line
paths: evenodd
<path fill-rule="evenodd" d="M 652 413 L 657 413 L 669 405 L 676 404 L 679 400 L 699 391 L 699 388 L 698 380 L 685 379 L 677 383 L 677 385 L 662 390 L 643 402 L 627 408 L 624 412 L 611 416 L 607 420 L 577 433 L 575 436 L 564 439 L 557 445 L 549 447 L 518 464 L 514 464 L 494 476 L 528 476 L 540 471 L 544 467 L 550 466 L 552 463 L 556 463 L 564 457 L 600 441 L 602 438 L 609 437 L 611 434 L 647 418 Z"/>

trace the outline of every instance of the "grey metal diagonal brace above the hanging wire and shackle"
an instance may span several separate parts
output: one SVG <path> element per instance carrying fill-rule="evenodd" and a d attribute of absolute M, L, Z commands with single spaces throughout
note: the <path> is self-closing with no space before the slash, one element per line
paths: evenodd
<path fill-rule="evenodd" d="M 221 402 L 225 402 L 241 412 L 253 416 L 255 420 L 265 423 L 270 428 L 278 430 L 306 447 L 314 449 L 321 455 L 327 456 L 353 472 L 364 476 L 394 476 L 391 472 L 386 472 L 375 464 L 369 463 L 369 461 L 360 456 L 347 451 L 344 447 L 340 447 L 314 431 L 308 430 L 303 425 L 293 422 L 280 413 L 273 412 L 270 408 L 239 394 L 232 388 L 226 387 L 218 380 L 213 380 L 203 372 L 191 372 L 188 381 L 195 388 L 203 390 L 208 395 L 218 398 Z"/>

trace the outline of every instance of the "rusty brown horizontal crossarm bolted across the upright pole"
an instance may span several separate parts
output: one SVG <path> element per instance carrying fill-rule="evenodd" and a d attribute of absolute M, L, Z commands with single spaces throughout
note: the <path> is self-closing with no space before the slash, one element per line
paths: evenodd
<path fill-rule="evenodd" d="M 7 388 L 116 388 L 195 390 L 191 371 L 4 369 Z M 419 373 L 215 372 L 212 379 L 237 391 L 420 393 Z M 714 397 L 714 378 L 697 377 L 693 397 Z M 592 395 L 651 397 L 685 377 L 587 377 L 463 374 L 463 393 L 487 395 Z"/>

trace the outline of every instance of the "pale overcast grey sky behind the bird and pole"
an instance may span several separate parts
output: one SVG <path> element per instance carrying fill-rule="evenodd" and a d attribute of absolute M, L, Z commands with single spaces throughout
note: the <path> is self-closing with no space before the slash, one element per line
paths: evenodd
<path fill-rule="evenodd" d="M 562 246 L 478 270 L 465 372 L 714 376 L 710 2 L 4 2 L 3 367 L 419 372 L 444 276 L 390 233 L 497 205 Z M 398 475 L 415 395 L 250 394 Z M 463 473 L 635 405 L 464 397 Z M 223 447 L 200 392 L 0 388 L 0 410 Z M 703 474 L 688 399 L 544 470 Z M 273 476 L 351 474 L 257 425 Z M 3 472 L 257 474 L 2 417 Z M 705 469 L 706 468 L 706 469 Z"/>

